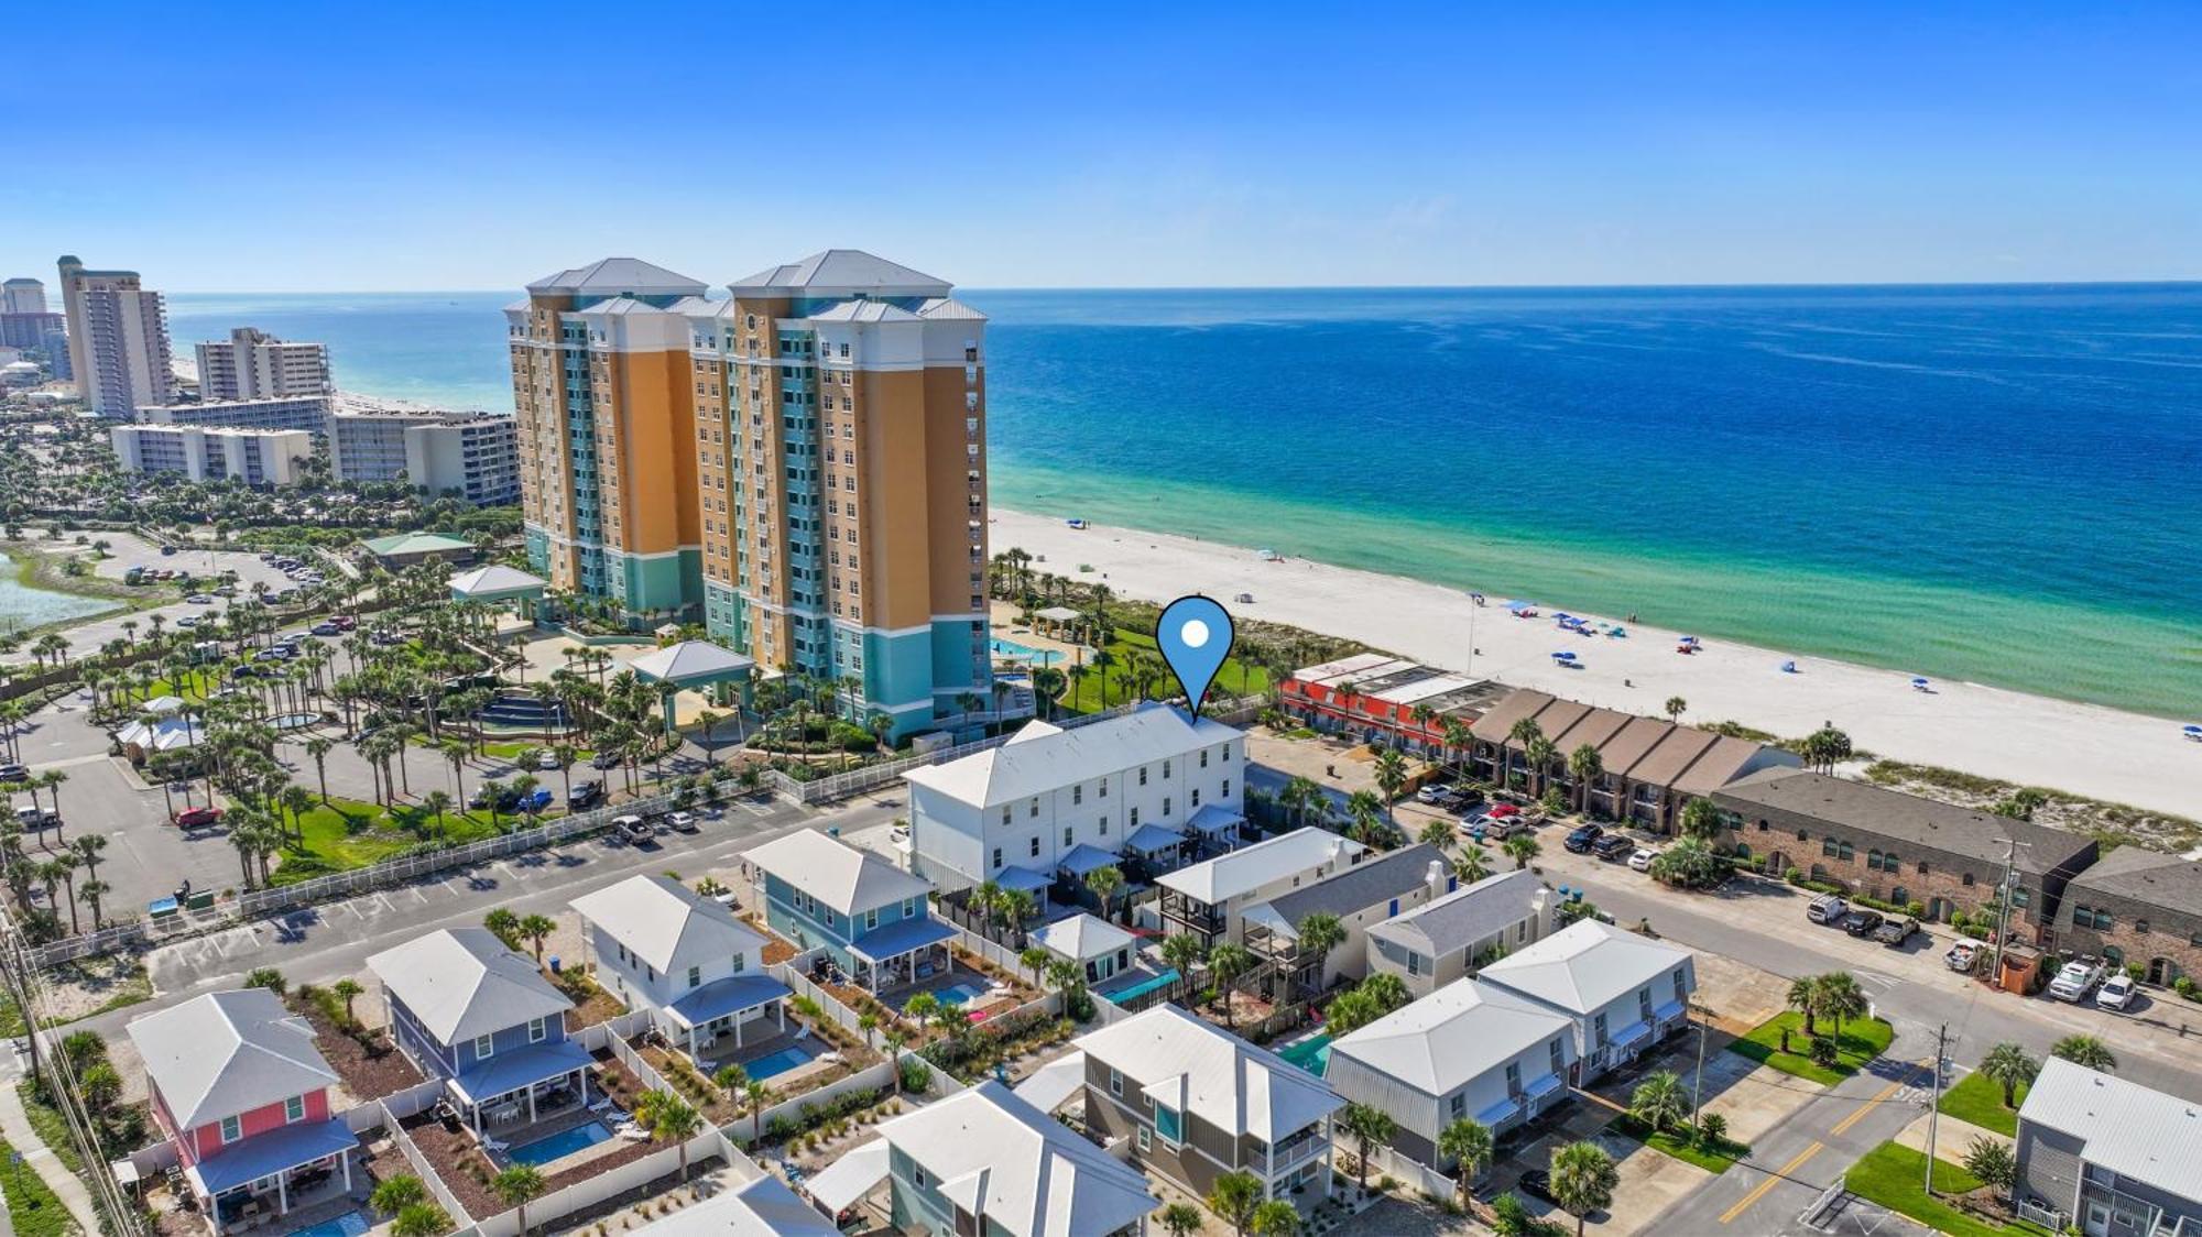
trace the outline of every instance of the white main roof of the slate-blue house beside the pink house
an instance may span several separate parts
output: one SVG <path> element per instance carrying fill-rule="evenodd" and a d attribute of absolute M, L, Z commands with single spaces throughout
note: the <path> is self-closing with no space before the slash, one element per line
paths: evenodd
<path fill-rule="evenodd" d="M 531 957 L 504 949 L 482 927 L 432 931 L 368 957 L 368 968 L 440 1043 L 573 1008 Z"/>

